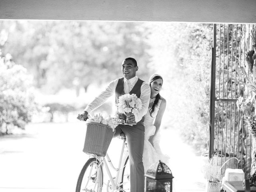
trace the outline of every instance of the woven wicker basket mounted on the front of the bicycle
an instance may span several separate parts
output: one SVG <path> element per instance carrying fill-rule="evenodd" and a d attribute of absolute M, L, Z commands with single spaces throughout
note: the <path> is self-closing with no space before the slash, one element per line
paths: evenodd
<path fill-rule="evenodd" d="M 83 152 L 106 156 L 110 142 L 114 136 L 112 128 L 100 123 L 87 123 L 87 131 Z"/>

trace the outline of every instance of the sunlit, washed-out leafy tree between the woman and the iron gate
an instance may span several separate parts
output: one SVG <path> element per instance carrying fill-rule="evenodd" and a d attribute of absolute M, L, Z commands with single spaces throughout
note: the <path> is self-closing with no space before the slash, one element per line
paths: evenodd
<path fill-rule="evenodd" d="M 166 127 L 178 129 L 198 154 L 207 152 L 209 136 L 210 24 L 150 24 L 149 66 L 164 78 Z"/>

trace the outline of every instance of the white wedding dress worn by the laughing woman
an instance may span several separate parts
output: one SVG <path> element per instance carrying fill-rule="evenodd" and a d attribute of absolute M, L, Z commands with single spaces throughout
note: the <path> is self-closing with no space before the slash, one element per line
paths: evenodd
<path fill-rule="evenodd" d="M 150 98 L 150 102 L 154 102 L 155 99 Z M 144 149 L 143 149 L 143 164 L 144 164 L 144 171 L 147 172 L 148 168 L 152 164 L 156 164 L 161 160 L 165 164 L 168 164 L 169 157 L 167 155 L 162 154 L 162 151 L 160 149 L 159 143 L 160 143 L 160 131 L 158 131 L 157 135 L 154 136 L 154 147 L 152 144 L 148 141 L 150 136 L 154 135 L 156 132 L 156 127 L 154 126 L 156 115 L 158 114 L 158 110 L 160 107 L 160 104 L 162 102 L 162 99 L 158 101 L 158 104 L 155 106 L 154 112 L 150 116 L 150 109 L 148 108 L 147 114 L 144 116 L 144 127 L 145 127 L 145 140 L 144 140 Z"/>

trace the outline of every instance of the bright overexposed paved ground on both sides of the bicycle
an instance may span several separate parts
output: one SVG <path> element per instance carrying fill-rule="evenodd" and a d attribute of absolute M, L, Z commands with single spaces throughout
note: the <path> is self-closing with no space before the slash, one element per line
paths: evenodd
<path fill-rule="evenodd" d="M 85 124 L 29 124 L 26 134 L 0 138 L 0 192 L 72 192 L 88 156 L 82 152 Z M 114 139 L 110 157 L 115 163 Z M 171 158 L 174 192 L 204 191 L 201 166 L 175 130 L 164 130 L 161 146 Z"/>

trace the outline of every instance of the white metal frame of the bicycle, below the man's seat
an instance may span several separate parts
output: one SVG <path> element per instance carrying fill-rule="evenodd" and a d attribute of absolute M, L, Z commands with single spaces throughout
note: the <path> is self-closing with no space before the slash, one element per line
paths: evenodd
<path fill-rule="evenodd" d="M 126 146 L 126 138 L 122 138 L 122 140 L 123 140 L 123 144 L 122 144 L 122 150 L 121 150 L 121 154 L 120 154 L 120 158 L 119 158 L 118 168 L 114 167 L 112 161 L 110 160 L 110 157 L 108 156 L 108 153 L 106 153 L 105 157 L 96 157 L 96 158 L 100 158 L 100 163 L 98 164 L 98 170 L 100 169 L 100 166 L 103 166 L 103 165 L 104 165 L 104 168 L 106 169 L 106 172 L 107 172 L 110 182 L 112 184 L 112 192 L 114 192 L 114 190 L 122 190 L 122 191 L 126 192 L 125 190 L 120 188 L 120 185 L 122 185 L 122 183 L 121 183 L 122 176 L 120 176 L 120 173 L 121 173 L 121 170 L 124 169 L 124 166 L 125 166 L 124 164 L 128 157 L 128 151 L 124 150 L 124 147 Z M 110 167 L 113 170 L 116 171 L 115 179 L 113 179 L 113 177 L 112 177 L 112 174 L 110 172 L 110 168 L 109 168 L 108 164 L 110 165 Z"/>

